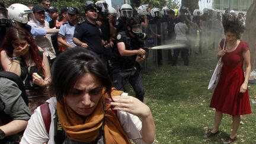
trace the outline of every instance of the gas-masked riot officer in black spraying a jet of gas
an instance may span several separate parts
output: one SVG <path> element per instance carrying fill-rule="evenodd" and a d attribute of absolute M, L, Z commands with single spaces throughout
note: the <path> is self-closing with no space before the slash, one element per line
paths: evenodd
<path fill-rule="evenodd" d="M 143 101 L 144 88 L 138 62 L 145 59 L 142 40 L 142 27 L 139 17 L 127 20 L 127 29 L 116 36 L 117 47 L 114 49 L 113 81 L 117 89 L 126 91 L 129 81 L 136 93 L 136 98 Z"/>

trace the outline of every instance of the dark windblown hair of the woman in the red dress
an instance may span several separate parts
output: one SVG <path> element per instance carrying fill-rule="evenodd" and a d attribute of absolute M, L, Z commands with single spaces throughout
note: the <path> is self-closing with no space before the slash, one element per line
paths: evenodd
<path fill-rule="evenodd" d="M 245 26 L 239 21 L 239 19 L 231 14 L 222 15 L 222 25 L 224 28 L 224 33 L 231 32 L 236 34 L 236 38 L 240 39 L 242 33 L 244 33 Z"/>

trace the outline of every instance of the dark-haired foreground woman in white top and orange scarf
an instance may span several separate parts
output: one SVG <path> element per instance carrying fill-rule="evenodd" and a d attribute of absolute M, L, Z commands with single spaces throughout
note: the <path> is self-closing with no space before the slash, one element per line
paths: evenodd
<path fill-rule="evenodd" d="M 56 116 L 66 134 L 65 143 L 155 142 L 150 108 L 112 88 L 101 60 L 83 47 L 67 49 L 57 57 L 49 91 L 56 96 L 47 101 L 52 120 L 49 133 L 40 106 L 28 121 L 21 144 L 56 143 Z"/>

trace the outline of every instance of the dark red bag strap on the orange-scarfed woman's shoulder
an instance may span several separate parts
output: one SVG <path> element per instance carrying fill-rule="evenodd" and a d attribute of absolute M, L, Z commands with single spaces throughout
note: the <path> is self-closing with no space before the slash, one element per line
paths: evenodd
<path fill-rule="evenodd" d="M 52 122 L 52 114 L 50 113 L 49 103 L 40 105 L 41 116 L 43 117 L 46 132 L 50 132 L 50 123 Z"/>

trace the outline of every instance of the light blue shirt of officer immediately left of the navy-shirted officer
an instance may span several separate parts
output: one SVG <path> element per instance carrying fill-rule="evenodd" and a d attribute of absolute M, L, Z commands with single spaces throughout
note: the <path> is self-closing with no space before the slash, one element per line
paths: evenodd
<path fill-rule="evenodd" d="M 76 46 L 76 44 L 73 43 L 74 31 L 75 31 L 75 25 L 67 21 L 60 26 L 58 35 L 61 37 L 65 37 L 66 42 L 68 44 L 71 44 L 72 46 Z"/>

